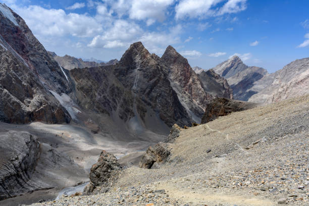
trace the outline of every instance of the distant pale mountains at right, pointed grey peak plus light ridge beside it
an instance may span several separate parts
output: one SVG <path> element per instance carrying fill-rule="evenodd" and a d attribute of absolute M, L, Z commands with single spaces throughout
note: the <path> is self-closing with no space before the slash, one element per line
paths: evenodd
<path fill-rule="evenodd" d="M 235 99 L 268 104 L 309 93 L 309 58 L 295 60 L 269 74 L 261 67 L 248 67 L 234 56 L 217 65 L 215 72 L 226 78 Z"/>

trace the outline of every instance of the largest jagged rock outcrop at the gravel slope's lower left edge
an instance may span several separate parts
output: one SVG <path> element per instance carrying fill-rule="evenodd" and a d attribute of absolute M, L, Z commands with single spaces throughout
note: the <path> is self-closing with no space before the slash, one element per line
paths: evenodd
<path fill-rule="evenodd" d="M 120 169 L 117 158 L 102 150 L 97 163 L 91 167 L 90 183 L 85 187 L 83 194 L 107 192 L 111 184 L 117 180 Z"/>

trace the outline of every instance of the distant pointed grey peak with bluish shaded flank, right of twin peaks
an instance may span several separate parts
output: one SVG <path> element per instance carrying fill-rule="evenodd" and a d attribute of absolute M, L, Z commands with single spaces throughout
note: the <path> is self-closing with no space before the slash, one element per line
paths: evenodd
<path fill-rule="evenodd" d="M 253 84 L 268 74 L 261 67 L 248 67 L 237 56 L 217 65 L 213 70 L 228 81 L 234 98 L 243 101 L 259 92 L 252 90 Z"/>

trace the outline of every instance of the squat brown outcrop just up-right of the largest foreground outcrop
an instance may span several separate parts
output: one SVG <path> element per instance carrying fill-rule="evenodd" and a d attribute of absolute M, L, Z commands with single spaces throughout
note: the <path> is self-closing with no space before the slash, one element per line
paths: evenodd
<path fill-rule="evenodd" d="M 171 152 L 166 147 L 166 144 L 163 142 L 159 142 L 153 147 L 149 146 L 139 162 L 139 167 L 151 169 L 155 163 L 164 163 L 170 153 Z"/>

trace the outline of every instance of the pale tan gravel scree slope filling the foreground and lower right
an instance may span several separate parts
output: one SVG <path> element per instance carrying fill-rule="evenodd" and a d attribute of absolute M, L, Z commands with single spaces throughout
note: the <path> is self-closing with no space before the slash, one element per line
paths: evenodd
<path fill-rule="evenodd" d="M 309 204 L 309 95 L 182 130 L 168 147 L 168 163 L 129 167 L 107 193 L 33 205 Z"/>

